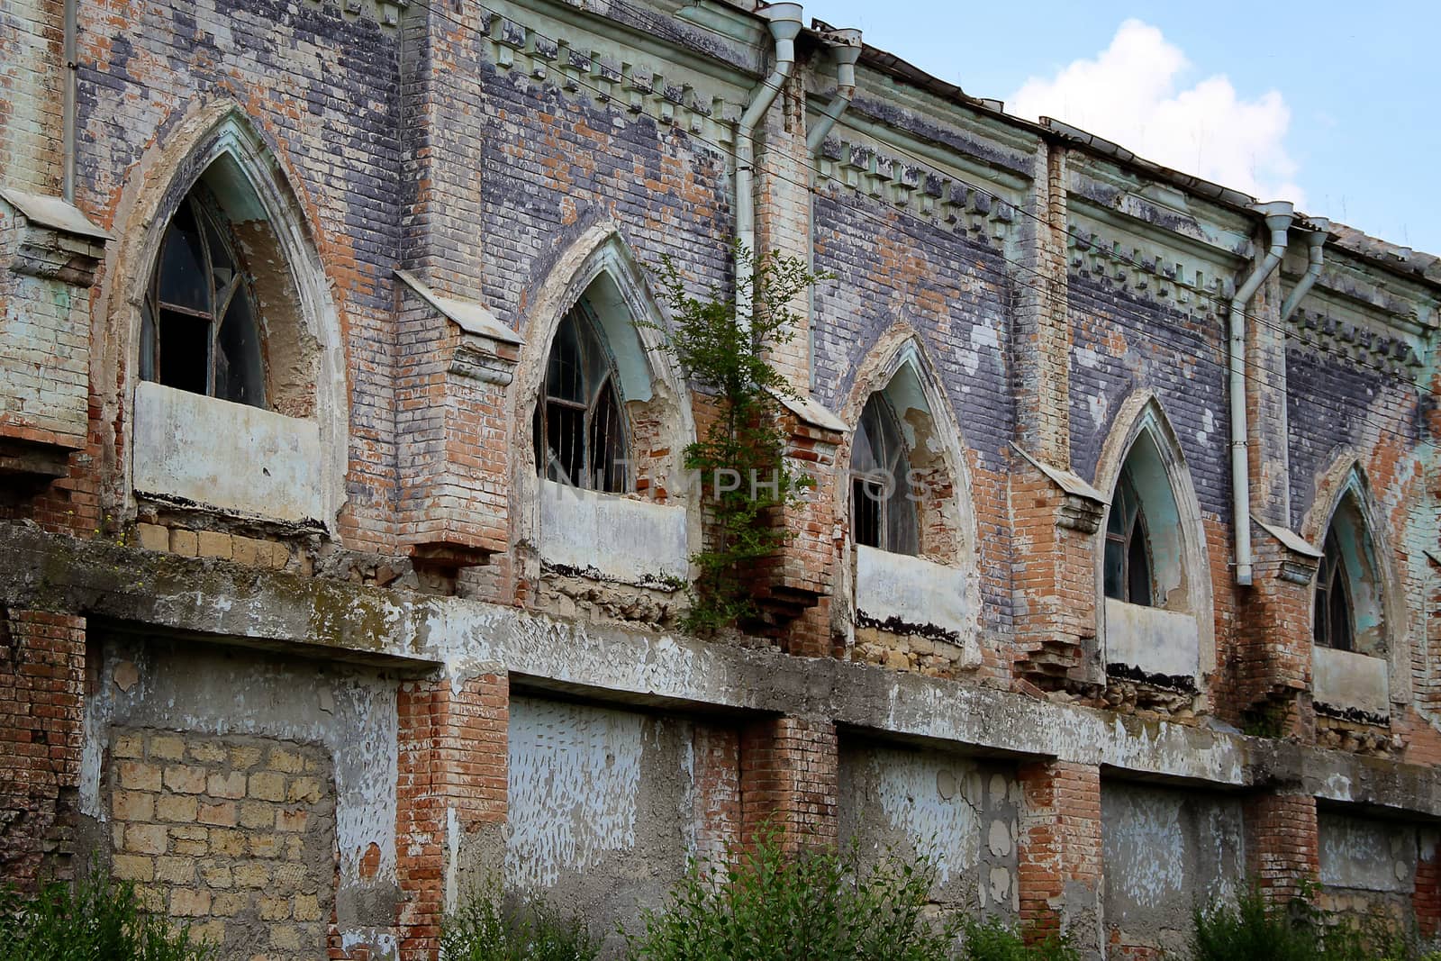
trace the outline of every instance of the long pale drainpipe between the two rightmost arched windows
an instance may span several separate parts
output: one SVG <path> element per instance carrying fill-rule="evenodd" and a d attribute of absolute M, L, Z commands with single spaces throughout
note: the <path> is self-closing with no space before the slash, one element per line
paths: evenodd
<path fill-rule="evenodd" d="M 1231 298 L 1231 491 L 1232 517 L 1236 526 L 1236 584 L 1251 585 L 1251 451 L 1246 425 L 1246 304 L 1285 256 L 1285 235 L 1295 219 L 1294 207 L 1285 200 L 1258 203 L 1252 207 L 1265 218 L 1271 231 L 1271 246 L 1251 277 Z"/>

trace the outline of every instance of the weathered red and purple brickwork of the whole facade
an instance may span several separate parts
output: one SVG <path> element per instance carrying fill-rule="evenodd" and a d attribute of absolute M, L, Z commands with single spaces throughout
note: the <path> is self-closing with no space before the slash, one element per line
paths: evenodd
<path fill-rule="evenodd" d="M 393 268 L 406 267 L 442 294 L 484 304 L 533 340 L 545 320 L 537 317 L 536 292 L 561 271 L 576 239 L 598 226 L 614 226 L 643 267 L 673 255 L 693 291 L 726 291 L 733 195 L 723 141 L 755 66 L 749 62 L 755 52 L 741 55 L 715 37 L 706 40 L 710 46 L 692 42 L 674 62 L 650 63 L 637 56 L 638 46 L 664 61 L 656 45 L 677 42 L 690 27 L 618 1 L 595 16 L 625 27 L 599 24 L 608 46 L 592 49 L 599 40 L 588 42 L 585 30 L 598 26 L 595 17 L 582 20 L 562 7 L 553 17 L 536 14 L 535 23 L 519 23 L 491 13 L 460 17 L 414 4 L 402 10 L 389 0 L 300 7 L 282 0 L 184 0 L 164 9 L 130 0 L 82 4 L 78 203 L 97 223 L 124 239 L 147 229 L 141 197 L 163 195 L 156 210 L 173 206 L 197 173 L 176 144 L 199 111 L 220 102 L 244 109 L 294 189 L 344 337 L 343 363 L 333 375 L 344 377 L 350 405 L 347 506 L 334 537 L 277 535 L 264 524 L 231 530 L 226 523 L 233 519 L 190 514 L 179 522 L 154 511 L 127 513 L 125 396 L 135 377 L 134 317 L 133 304 L 117 291 L 134 277 L 107 272 L 148 265 L 131 264 L 112 248 L 92 300 L 46 285 L 50 281 L 9 274 L 0 280 L 7 311 L 0 318 L 0 360 L 16 369 L 37 360 L 52 365 L 24 386 L 40 399 L 65 401 L 43 408 L 48 416 L 63 414 L 63 422 L 45 429 L 66 434 L 81 448 L 68 464 L 69 477 L 17 506 L 6 499 L 0 516 L 86 537 L 118 539 L 133 530 L 143 547 L 203 558 L 208 565 L 382 585 L 393 582 L 398 571 L 391 565 L 416 535 L 438 530 L 497 553 L 510 546 L 516 537 L 507 539 L 507 524 L 513 533 L 514 516 L 530 504 L 513 503 L 506 452 L 529 442 L 529 411 L 520 409 L 516 389 L 503 377 L 486 386 L 457 380 L 447 357 L 460 339 L 455 326 L 398 297 Z M 59 7 L 53 0 L 16 0 L 7 14 L 19 29 L 0 35 L 0 177 L 53 193 Z M 117 30 L 114 22 L 127 27 Z M 576 32 L 575 42 L 550 36 L 565 30 Z M 742 62 L 746 69 L 735 69 Z M 765 118 L 758 236 L 765 249 L 813 255 L 816 268 L 836 280 L 816 291 L 813 311 L 803 311 L 803 336 L 778 352 L 777 362 L 803 392 L 814 385 L 816 401 L 842 411 L 853 402 L 866 360 L 893 331 L 914 330 L 934 360 L 937 392 L 961 425 L 961 455 L 970 468 L 981 598 L 978 679 L 1036 697 L 1072 681 L 1099 683 L 1085 664 L 1094 648 L 1095 542 L 1056 526 L 1058 491 L 1014 458 L 1010 442 L 1091 480 L 1117 411 L 1136 390 L 1148 389 L 1176 429 L 1208 532 L 1223 664 L 1213 679 L 1221 713 L 1239 720 L 1246 709 L 1274 699 L 1282 702 L 1288 732 L 1313 739 L 1304 699 L 1308 588 L 1272 576 L 1280 559 L 1259 537 L 1267 576 L 1246 592 L 1229 586 L 1236 519 L 1228 475 L 1225 324 L 1218 313 L 1223 284 L 1210 277 L 1205 287 L 1216 297 L 1197 297 L 1166 287 L 1170 268 L 1154 259 L 1099 271 L 1087 256 L 1074 256 L 1079 248 L 1068 236 L 1071 220 L 1098 200 L 1075 196 L 1084 193 L 1076 189 L 1084 170 L 1072 158 L 1084 151 L 1032 141 L 1029 133 L 1010 128 L 1004 144 L 989 143 L 986 125 L 996 121 L 970 107 L 932 121 L 916 118 L 912 107 L 922 101 L 906 101 L 905 108 L 862 104 L 878 130 L 905 130 L 931 151 L 954 150 L 961 169 L 977 169 L 974 179 L 990 176 L 984 167 L 1012 184 L 996 189 L 1023 197 L 1017 200 L 1023 212 L 964 183 L 947 180 L 942 190 L 941 179 L 921 166 L 859 144 L 844 146 L 827 161 L 843 171 L 844 186 L 823 180 L 807 192 L 804 79 L 790 84 Z M 912 95 L 921 94 L 905 94 Z M 937 125 L 951 122 L 964 131 Z M 836 134 L 857 131 L 842 124 Z M 1136 190 L 1125 203 L 1141 203 L 1144 177 L 1124 167 L 1114 176 L 1133 174 Z M 1208 218 L 1215 219 L 1235 241 L 1229 249 L 1210 251 L 1213 259 L 1245 262 L 1254 254 L 1245 235 L 1255 225 L 1208 203 L 1199 197 L 1195 203 L 1202 232 L 1213 226 Z M 1120 222 L 1130 213 L 1115 209 L 1108 216 Z M 1153 235 L 1164 229 L 1159 220 L 1146 228 Z M 1192 232 L 1177 249 L 1197 243 L 1206 241 Z M 1370 268 L 1353 261 L 1346 269 L 1362 275 Z M 1392 281 L 1402 290 L 1402 280 L 1386 282 Z M 1277 323 L 1281 292 L 1274 280 L 1257 303 L 1268 324 Z M 65 307 L 62 294 L 71 298 Z M 1359 291 L 1353 300 L 1368 295 Z M 43 310 L 27 308 L 20 317 L 22 301 Z M 89 330 L 81 320 L 86 314 Z M 1353 334 L 1359 343 L 1363 334 Z M 1270 366 L 1251 398 L 1259 513 L 1301 527 L 1336 452 L 1355 448 L 1393 522 L 1392 533 L 1399 533 L 1419 486 L 1408 477 L 1424 468 L 1417 450 L 1434 435 L 1435 414 L 1425 419 L 1412 385 L 1355 357 L 1311 349 L 1304 343 L 1308 336 L 1252 328 L 1258 363 Z M 82 347 L 94 357 L 82 362 Z M 88 375 L 94 382 L 84 398 Z M 20 379 L 4 383 L 14 388 Z M 638 441 L 669 437 L 651 414 L 660 416 L 647 412 L 637 424 Z M 823 656 L 833 653 L 833 607 L 847 604 L 833 595 L 842 581 L 834 576 L 843 560 L 836 555 L 842 486 L 834 477 L 843 470 L 836 458 L 844 438 L 806 426 L 793 426 L 791 437 L 793 457 L 823 467 L 827 477 L 818 501 L 787 519 L 801 536 L 778 563 L 777 579 L 804 596 L 782 599 L 797 611 L 767 640 L 793 654 Z M 465 470 L 450 475 L 452 465 Z M 431 522 L 435 530 L 425 529 Z M 1404 546 L 1411 558 L 1435 549 L 1434 523 L 1419 530 L 1392 546 Z M 517 558 L 526 549 L 497 556 L 468 586 L 486 599 L 535 604 L 543 591 L 514 584 L 510 573 L 523 569 Z M 1408 599 L 1427 599 L 1417 584 L 1404 586 Z M 6 841 L 0 862 L 7 873 L 33 879 L 48 856 L 63 864 L 68 853 L 85 620 L 10 611 L 4 624 L 10 658 L 0 663 L 0 741 L 13 749 L 0 759 L 6 774 L 0 794 L 10 813 L 0 828 Z M 1432 617 L 1429 624 L 1434 648 L 1441 621 Z M 1026 683 L 1013 683 L 1017 654 Z M 1418 657 L 1418 690 L 1427 690 L 1434 660 L 1429 653 Z M 442 882 L 457 869 L 445 847 L 447 818 L 454 814 L 465 831 L 480 831 L 507 815 L 506 677 L 409 681 L 399 716 L 399 924 L 403 954 L 418 958 L 435 947 Z M 1409 759 L 1441 756 L 1441 741 L 1424 716 L 1398 712 L 1392 730 L 1406 741 Z M 114 769 L 107 772 L 117 779 L 115 864 L 148 885 L 169 909 L 213 925 L 226 939 L 262 931 L 262 949 L 277 952 L 318 944 L 314 939 L 323 935 L 313 915 L 330 916 L 324 885 L 314 892 L 271 890 L 272 869 L 287 859 L 258 852 L 264 836 L 285 833 L 264 827 L 267 811 L 277 826 L 298 811 L 310 818 L 298 834 L 323 833 L 326 791 L 320 800 L 310 800 L 310 792 L 291 800 L 290 785 L 310 774 L 269 766 L 271 746 L 242 769 L 233 751 L 244 746 L 189 735 L 120 735 Z M 793 844 L 834 840 L 837 762 L 829 719 L 754 722 L 739 736 L 710 732 L 700 746 L 705 764 L 696 803 L 715 828 L 706 840 L 712 849 L 754 833 L 767 818 L 777 818 Z M 122 756 L 122 749 L 131 754 Z M 275 751 L 282 758 L 277 764 L 288 764 L 290 749 Z M 304 752 L 300 756 L 308 762 Z M 171 768 L 174 784 L 166 779 Z M 176 787 L 199 787 L 200 774 L 203 791 Z M 212 794 L 212 779 L 229 784 L 225 779 L 238 774 L 245 775 L 245 795 Z M 252 778 L 264 785 L 271 775 L 284 787 L 282 800 L 251 797 Z M 1098 778 L 1085 765 L 1032 761 L 1023 768 L 1020 876 L 1027 921 L 1052 924 L 1059 915 L 1068 925 L 1087 925 L 1098 909 L 1099 813 L 1092 810 Z M 206 811 L 223 821 L 226 804 L 235 807 L 235 824 L 202 820 Z M 246 810 L 251 824 L 242 821 Z M 1297 877 L 1314 873 L 1314 801 L 1258 797 L 1248 817 L 1255 866 L 1268 886 L 1290 892 Z M 300 859 L 307 864 L 308 843 L 303 841 Z M 229 875 L 219 867 L 203 873 L 202 862 L 225 859 Z M 186 875 L 187 863 L 195 875 Z M 236 864 L 244 877 L 264 876 L 264 888 L 236 883 Z M 226 876 L 229 888 L 212 882 Z M 304 885 L 313 886 L 314 877 L 305 877 Z M 1431 903 L 1428 890 L 1418 885 L 1418 906 Z M 300 900 L 311 895 L 320 899 L 314 909 Z M 1084 938 L 1091 938 L 1089 929 Z"/>

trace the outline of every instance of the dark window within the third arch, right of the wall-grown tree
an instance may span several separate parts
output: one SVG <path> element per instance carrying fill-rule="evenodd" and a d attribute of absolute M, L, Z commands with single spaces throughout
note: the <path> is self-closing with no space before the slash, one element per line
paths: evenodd
<path fill-rule="evenodd" d="M 911 455 L 895 408 L 870 395 L 850 451 L 850 536 L 857 545 L 892 553 L 919 552 L 919 524 L 911 496 Z"/>

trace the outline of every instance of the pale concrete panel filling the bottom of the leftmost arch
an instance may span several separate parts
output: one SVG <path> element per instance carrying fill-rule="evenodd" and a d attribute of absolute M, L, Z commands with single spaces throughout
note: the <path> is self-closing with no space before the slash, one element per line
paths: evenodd
<path fill-rule="evenodd" d="M 326 522 L 320 425 L 135 385 L 134 487 L 255 517 Z"/>

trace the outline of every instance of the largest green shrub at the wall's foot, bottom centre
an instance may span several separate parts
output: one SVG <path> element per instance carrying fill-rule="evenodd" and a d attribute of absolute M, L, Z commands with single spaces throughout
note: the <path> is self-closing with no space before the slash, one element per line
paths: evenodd
<path fill-rule="evenodd" d="M 696 862 L 630 937 L 633 961 L 941 961 L 954 931 L 928 916 L 934 864 L 886 853 L 788 854 L 775 833 L 725 864 Z"/>

